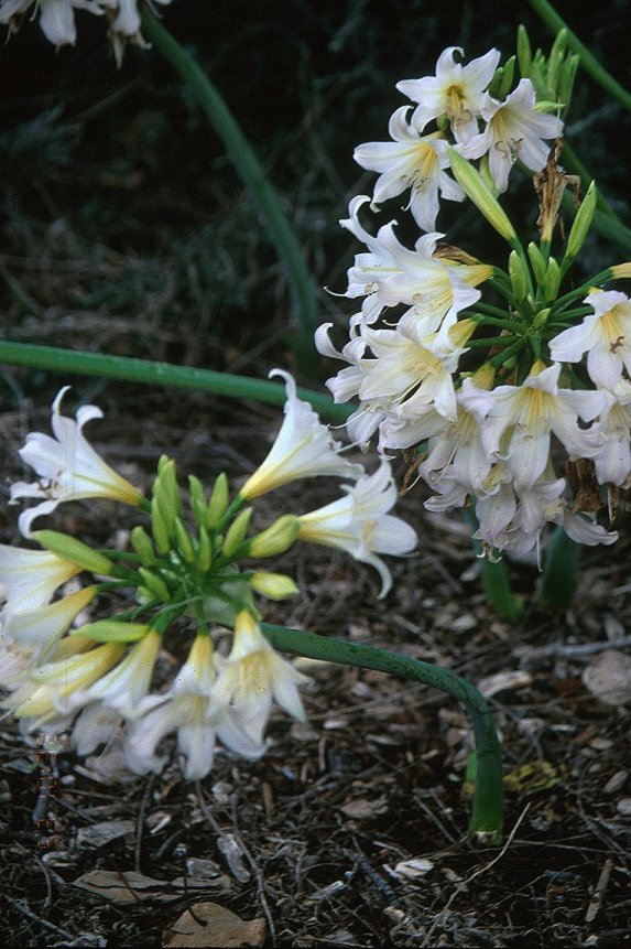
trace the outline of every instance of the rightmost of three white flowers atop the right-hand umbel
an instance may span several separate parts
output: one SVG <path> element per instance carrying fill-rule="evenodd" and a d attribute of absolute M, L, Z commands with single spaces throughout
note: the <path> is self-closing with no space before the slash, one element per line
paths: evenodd
<path fill-rule="evenodd" d="M 536 110 L 534 87 L 521 79 L 503 103 L 486 96 L 480 112 L 488 123 L 463 148 L 465 158 L 489 155 L 489 170 L 497 190 L 504 192 L 510 171 L 519 159 L 531 171 L 541 171 L 547 161 L 550 144 L 544 139 L 563 134 L 563 122 L 556 116 Z"/>

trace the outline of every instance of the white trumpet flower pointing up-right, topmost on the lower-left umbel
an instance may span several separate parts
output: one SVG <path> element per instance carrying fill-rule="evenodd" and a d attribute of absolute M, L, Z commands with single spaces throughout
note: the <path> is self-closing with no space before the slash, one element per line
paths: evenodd
<path fill-rule="evenodd" d="M 303 477 L 359 477 L 363 473 L 361 465 L 341 457 L 341 443 L 333 440 L 308 402 L 296 397 L 296 384 L 290 374 L 273 369 L 270 376 L 285 380 L 285 418 L 268 457 L 241 488 L 241 497 L 250 500 Z"/>

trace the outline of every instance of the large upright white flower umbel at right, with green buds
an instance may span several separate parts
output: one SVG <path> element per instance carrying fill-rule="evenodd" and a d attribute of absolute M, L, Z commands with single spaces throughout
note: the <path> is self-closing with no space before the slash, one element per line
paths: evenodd
<path fill-rule="evenodd" d="M 452 46 L 434 76 L 398 84 L 412 105 L 392 116 L 390 141 L 356 150 L 379 177 L 340 222 L 366 247 L 344 294 L 361 306 L 341 349 L 333 324 L 316 333 L 319 352 L 347 364 L 327 385 L 336 402 L 359 401 L 352 441 L 377 434 L 380 452 L 407 452 L 431 510 L 475 503 L 491 559 L 538 550 L 546 525 L 613 542 L 616 498 L 631 483 L 631 301 L 610 285 L 631 265 L 570 274 L 594 183 L 557 237 L 564 190 L 577 190 L 557 162 L 577 60 L 563 35 L 547 60 L 533 57 L 523 30 L 518 58 L 519 79 L 514 56 L 500 66 L 490 50 L 465 64 Z M 526 246 L 499 199 L 515 166 L 534 172 L 538 197 L 538 240 Z M 412 248 L 395 220 L 376 234 L 365 223 L 399 195 L 425 231 Z M 442 199 L 475 205 L 509 245 L 503 267 L 443 242 Z"/>

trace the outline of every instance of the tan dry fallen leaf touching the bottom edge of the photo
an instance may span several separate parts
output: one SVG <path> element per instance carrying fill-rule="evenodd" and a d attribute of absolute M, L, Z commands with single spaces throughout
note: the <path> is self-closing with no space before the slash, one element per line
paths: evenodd
<path fill-rule="evenodd" d="M 196 903 L 194 916 L 186 909 L 163 932 L 163 949 L 186 947 L 186 949 L 236 949 L 239 946 L 262 946 L 265 938 L 265 920 L 262 918 L 247 921 L 217 903 Z"/>

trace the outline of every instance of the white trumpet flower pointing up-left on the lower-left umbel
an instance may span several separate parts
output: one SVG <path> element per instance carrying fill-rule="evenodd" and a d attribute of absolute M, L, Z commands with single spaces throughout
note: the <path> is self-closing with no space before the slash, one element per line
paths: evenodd
<path fill-rule="evenodd" d="M 55 438 L 42 432 L 30 432 L 20 450 L 22 461 L 29 464 L 41 481 L 34 484 L 19 482 L 11 486 L 11 500 L 21 497 L 45 498 L 42 504 L 22 511 L 19 518 L 21 532 L 28 537 L 36 517 L 51 514 L 58 504 L 88 497 L 112 498 L 138 505 L 141 493 L 126 478 L 107 465 L 88 444 L 83 428 L 91 419 L 102 418 L 96 406 L 83 406 L 76 421 L 61 414 L 65 386 L 53 402 L 52 428 Z"/>

